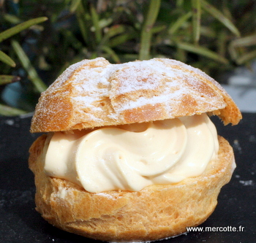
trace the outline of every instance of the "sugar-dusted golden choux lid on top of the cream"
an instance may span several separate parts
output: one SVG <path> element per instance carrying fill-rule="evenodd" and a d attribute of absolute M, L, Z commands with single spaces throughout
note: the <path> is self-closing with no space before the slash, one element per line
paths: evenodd
<path fill-rule="evenodd" d="M 225 90 L 199 69 L 167 58 L 110 64 L 83 60 L 42 93 L 31 132 L 165 120 L 211 112 L 237 124 L 241 112 Z"/>

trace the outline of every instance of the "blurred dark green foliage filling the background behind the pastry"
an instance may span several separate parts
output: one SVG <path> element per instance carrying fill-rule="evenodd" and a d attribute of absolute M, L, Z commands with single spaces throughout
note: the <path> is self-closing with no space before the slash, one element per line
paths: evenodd
<path fill-rule="evenodd" d="M 72 63 L 173 58 L 218 82 L 256 58 L 255 0 L 0 0 L 0 115 L 33 112 Z"/>

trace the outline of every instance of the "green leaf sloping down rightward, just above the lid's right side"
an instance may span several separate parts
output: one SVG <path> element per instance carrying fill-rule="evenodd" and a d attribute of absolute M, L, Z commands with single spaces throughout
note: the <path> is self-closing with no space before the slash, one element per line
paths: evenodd
<path fill-rule="evenodd" d="M 228 61 L 226 58 L 223 58 L 221 55 L 214 53 L 212 50 L 207 49 L 206 47 L 200 47 L 198 45 L 192 45 L 184 42 L 177 43 L 177 46 L 183 50 L 187 50 L 191 53 L 196 53 L 199 55 L 206 56 L 207 58 L 211 58 L 219 63 L 227 64 Z"/>

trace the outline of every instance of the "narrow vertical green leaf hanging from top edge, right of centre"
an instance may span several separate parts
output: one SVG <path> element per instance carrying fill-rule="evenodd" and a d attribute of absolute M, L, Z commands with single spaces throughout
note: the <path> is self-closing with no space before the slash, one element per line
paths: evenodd
<path fill-rule="evenodd" d="M 201 23 L 201 4 L 200 0 L 192 1 L 192 26 L 193 26 L 193 39 L 198 42 L 200 39 L 200 23 Z"/>

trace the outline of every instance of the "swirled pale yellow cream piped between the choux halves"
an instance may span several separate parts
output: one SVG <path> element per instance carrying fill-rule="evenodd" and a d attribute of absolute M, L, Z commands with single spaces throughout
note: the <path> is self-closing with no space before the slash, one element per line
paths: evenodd
<path fill-rule="evenodd" d="M 217 131 L 206 114 L 76 134 L 56 132 L 45 172 L 91 193 L 138 191 L 202 174 L 218 150 Z"/>

